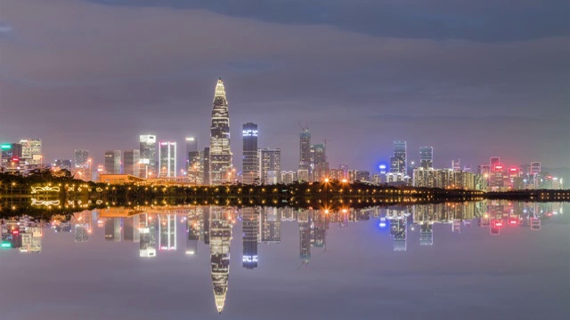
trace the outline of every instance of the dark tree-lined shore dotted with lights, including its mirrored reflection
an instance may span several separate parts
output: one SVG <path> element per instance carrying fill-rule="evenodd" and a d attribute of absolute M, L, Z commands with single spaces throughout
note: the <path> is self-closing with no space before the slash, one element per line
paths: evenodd
<path fill-rule="evenodd" d="M 277 185 L 220 186 L 110 185 L 74 179 L 69 172 L 37 170 L 27 176 L 0 173 L 0 217 L 42 212 L 78 212 L 110 206 L 291 206 L 298 209 L 362 209 L 374 205 L 438 204 L 481 200 L 567 202 L 570 190 L 484 192 L 464 189 L 395 187 L 325 180 Z"/>

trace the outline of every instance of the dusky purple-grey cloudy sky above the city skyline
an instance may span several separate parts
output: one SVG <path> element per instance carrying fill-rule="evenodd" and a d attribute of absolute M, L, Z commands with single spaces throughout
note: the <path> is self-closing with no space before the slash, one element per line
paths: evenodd
<path fill-rule="evenodd" d="M 394 140 L 476 168 L 570 166 L 566 1 L 2 0 L 0 140 L 46 159 L 138 148 L 140 134 L 208 146 L 218 77 L 234 165 L 241 124 L 298 166 L 298 122 L 330 167 L 374 171 Z"/>

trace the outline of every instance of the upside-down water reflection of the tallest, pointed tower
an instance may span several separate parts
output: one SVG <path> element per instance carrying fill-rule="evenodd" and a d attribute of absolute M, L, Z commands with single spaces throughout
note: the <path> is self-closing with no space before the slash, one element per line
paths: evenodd
<path fill-rule="evenodd" d="M 212 284 L 214 299 L 218 313 L 222 313 L 225 295 L 230 277 L 230 244 L 232 242 L 232 224 L 226 219 L 231 210 L 222 207 L 211 207 L 209 220 L 210 266 L 212 268 Z"/>

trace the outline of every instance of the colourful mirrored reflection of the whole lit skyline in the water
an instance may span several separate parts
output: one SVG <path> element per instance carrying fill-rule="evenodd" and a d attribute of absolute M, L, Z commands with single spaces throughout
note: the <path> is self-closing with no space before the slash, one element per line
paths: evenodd
<path fill-rule="evenodd" d="M 236 215 L 237 212 L 237 215 Z M 419 246 L 437 245 L 434 241 L 434 231 L 439 233 L 456 233 L 463 236 L 473 232 L 471 225 L 485 228 L 485 236 L 500 236 L 502 228 L 519 227 L 526 230 L 540 230 L 541 225 L 550 216 L 563 214 L 560 204 L 524 204 L 501 201 L 460 204 L 426 204 L 416 206 L 399 206 L 391 208 L 376 207 L 366 210 L 343 209 L 326 211 L 318 209 L 293 210 L 291 208 L 249 207 L 236 211 L 232 207 L 194 206 L 188 211 L 161 212 L 157 207 L 152 213 L 132 212 L 123 209 L 115 211 L 108 208 L 104 211 L 85 211 L 76 213 L 69 221 L 54 220 L 49 227 L 56 233 L 75 231 L 70 237 L 72 242 L 83 243 L 93 241 L 109 241 L 111 243 L 124 241 L 138 242 L 140 257 L 157 257 L 162 250 L 176 249 L 176 228 L 185 228 L 185 251 L 180 254 L 198 253 L 199 242 L 209 244 L 210 272 L 216 310 L 224 310 L 229 284 L 230 245 L 232 241 L 232 226 L 236 220 L 242 221 L 243 253 L 241 264 L 243 268 L 256 269 L 259 247 L 281 243 L 281 226 L 297 223 L 298 250 L 300 266 L 307 268 L 309 262 L 315 259 L 314 250 L 327 249 L 329 232 L 341 235 L 342 229 L 333 228 L 330 223 L 351 228 L 354 223 L 376 221 L 379 228 L 388 228 L 391 235 L 394 252 L 407 253 L 408 240 L 418 241 Z M 240 219 L 238 219 L 240 218 Z M 32 222 L 21 220 L 3 221 L 3 244 L 10 244 L 20 252 L 42 251 L 42 228 Z M 101 225 L 92 227 L 91 221 L 102 221 Z M 384 222 L 382 222 L 384 221 Z M 25 222 L 25 223 L 24 223 Z M 20 223 L 20 225 L 18 225 Z M 442 225 L 443 228 L 435 228 Z M 19 226 L 17 236 L 12 227 Z M 44 224 L 44 226 L 47 226 Z M 92 234 L 91 229 L 99 232 Z M 473 228 L 476 230 L 477 228 Z M 460 232 L 459 232 L 460 231 Z M 265 232 L 262 240 L 260 232 Z M 94 236 L 95 235 L 95 236 Z M 98 235 L 98 236 L 96 236 Z M 103 236 L 104 235 L 104 236 Z M 284 233 L 283 237 L 290 236 Z M 122 237 L 121 237 L 122 236 Z M 159 236 L 159 239 L 156 237 Z M 208 240 L 207 240 L 208 238 Z M 437 237 L 439 241 L 446 237 Z M 159 247 L 157 247 L 159 241 Z M 286 242 L 286 239 L 283 240 Z M 77 244 L 80 245 L 80 244 Z M 112 245 L 112 244 L 111 244 Z M 123 244 L 125 245 L 125 244 Z M 130 244 L 129 244 L 130 245 Z M 334 252 L 334 250 L 333 250 Z M 159 253 L 159 254 L 157 254 Z M 291 257 L 292 259 L 293 257 Z M 296 258 L 296 257 L 295 257 Z M 316 258 L 319 259 L 319 258 Z"/>

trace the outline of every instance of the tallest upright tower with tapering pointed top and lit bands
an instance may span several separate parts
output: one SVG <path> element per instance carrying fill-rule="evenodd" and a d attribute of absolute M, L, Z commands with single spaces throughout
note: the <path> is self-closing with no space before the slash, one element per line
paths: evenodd
<path fill-rule="evenodd" d="M 231 181 L 232 149 L 230 148 L 230 116 L 225 99 L 224 82 L 217 81 L 212 108 L 210 129 L 209 183 L 212 185 Z"/>

